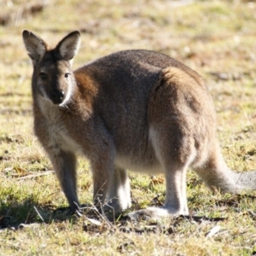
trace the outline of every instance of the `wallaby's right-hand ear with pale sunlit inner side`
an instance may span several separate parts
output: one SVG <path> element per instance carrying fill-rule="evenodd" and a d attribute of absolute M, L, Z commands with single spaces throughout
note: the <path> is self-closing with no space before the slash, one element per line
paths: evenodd
<path fill-rule="evenodd" d="M 69 33 L 55 48 L 55 53 L 63 60 L 70 61 L 78 53 L 80 46 L 80 33 Z"/>

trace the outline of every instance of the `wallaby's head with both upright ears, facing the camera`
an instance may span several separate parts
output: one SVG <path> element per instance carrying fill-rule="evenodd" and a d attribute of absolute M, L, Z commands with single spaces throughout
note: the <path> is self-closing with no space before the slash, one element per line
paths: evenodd
<path fill-rule="evenodd" d="M 55 49 L 49 49 L 43 39 L 26 30 L 23 32 L 23 40 L 34 67 L 33 95 L 55 105 L 64 105 L 73 91 L 71 66 L 79 50 L 79 32 L 69 33 Z"/>

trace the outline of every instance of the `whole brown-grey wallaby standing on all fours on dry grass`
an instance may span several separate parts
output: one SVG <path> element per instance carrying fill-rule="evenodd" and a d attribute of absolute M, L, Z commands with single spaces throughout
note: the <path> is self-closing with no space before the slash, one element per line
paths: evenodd
<path fill-rule="evenodd" d="M 73 211 L 80 207 L 76 154 L 90 160 L 95 204 L 115 212 L 131 207 L 127 169 L 166 175 L 164 206 L 137 216 L 189 214 L 188 167 L 210 189 L 256 189 L 256 172 L 232 172 L 225 164 L 212 97 L 189 67 L 138 49 L 107 55 L 73 72 L 79 32 L 69 33 L 55 49 L 26 30 L 23 40 L 33 65 L 35 134 Z"/>

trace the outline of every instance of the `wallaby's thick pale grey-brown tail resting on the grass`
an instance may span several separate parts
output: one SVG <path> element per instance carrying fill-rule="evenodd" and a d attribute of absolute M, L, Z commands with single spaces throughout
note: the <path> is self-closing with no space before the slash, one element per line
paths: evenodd
<path fill-rule="evenodd" d="M 221 150 L 214 147 L 207 163 L 195 168 L 195 172 L 211 190 L 221 193 L 238 194 L 256 190 L 256 172 L 234 172 L 226 165 Z"/>

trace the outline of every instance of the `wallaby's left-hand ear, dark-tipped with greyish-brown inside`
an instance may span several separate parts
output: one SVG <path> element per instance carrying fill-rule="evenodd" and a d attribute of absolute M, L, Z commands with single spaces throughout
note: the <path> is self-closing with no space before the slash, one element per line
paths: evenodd
<path fill-rule="evenodd" d="M 27 30 L 23 31 L 22 37 L 27 54 L 30 56 L 33 64 L 35 65 L 44 56 L 47 45 L 44 43 L 43 39 Z"/>

